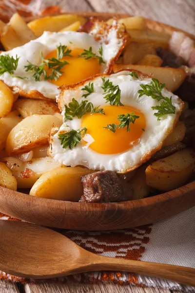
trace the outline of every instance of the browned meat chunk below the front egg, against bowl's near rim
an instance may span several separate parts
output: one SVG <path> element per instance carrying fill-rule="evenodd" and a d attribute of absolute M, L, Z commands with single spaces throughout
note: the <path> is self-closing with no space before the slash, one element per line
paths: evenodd
<path fill-rule="evenodd" d="M 80 202 L 119 202 L 132 198 L 133 189 L 114 171 L 98 171 L 81 177 L 83 195 Z"/>

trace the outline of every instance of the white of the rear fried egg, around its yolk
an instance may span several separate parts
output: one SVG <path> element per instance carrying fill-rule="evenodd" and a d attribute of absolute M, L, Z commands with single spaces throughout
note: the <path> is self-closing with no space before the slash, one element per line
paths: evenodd
<path fill-rule="evenodd" d="M 2 52 L 0 54 L 8 54 L 14 58 L 16 58 L 17 55 L 20 58 L 18 67 L 13 76 L 11 76 L 8 72 L 5 72 L 0 76 L 0 80 L 8 86 L 13 87 L 16 92 L 22 90 L 22 95 L 24 96 L 24 92 L 28 93 L 36 90 L 46 98 L 56 99 L 56 95 L 59 94 L 58 85 L 44 81 L 43 77 L 41 77 L 40 81 L 35 81 L 33 78 L 33 72 L 26 72 L 24 69 L 24 66 L 28 65 L 27 61 L 35 65 L 39 65 L 41 63 L 40 52 L 42 51 L 43 56 L 46 56 L 49 52 L 55 50 L 56 46 L 60 43 L 68 46 L 71 50 L 74 48 L 89 50 L 89 48 L 92 47 L 92 52 L 98 56 L 99 48 L 102 46 L 102 58 L 105 64 L 101 64 L 101 72 L 107 72 L 109 63 L 117 56 L 120 48 L 123 46 L 124 40 L 122 38 L 118 38 L 117 27 L 111 27 L 109 33 L 105 35 L 105 38 L 104 36 L 101 36 L 99 41 L 95 40 L 95 36 L 95 32 L 92 34 L 73 31 L 65 31 L 61 33 L 44 32 L 38 39 L 32 40 L 23 46 L 16 47 L 10 51 Z M 16 76 L 20 76 L 25 79 L 20 79 Z"/>

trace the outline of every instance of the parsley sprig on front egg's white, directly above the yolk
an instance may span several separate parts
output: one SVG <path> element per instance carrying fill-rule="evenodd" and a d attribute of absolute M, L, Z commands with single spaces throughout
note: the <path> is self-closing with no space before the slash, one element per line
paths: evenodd
<path fill-rule="evenodd" d="M 120 105 L 120 106 L 124 106 L 121 102 L 120 102 L 120 93 L 121 90 L 119 88 L 118 85 L 113 85 L 112 82 L 109 81 L 109 79 L 105 80 L 105 77 L 101 78 L 102 80 L 102 89 L 104 90 L 104 94 L 107 94 L 106 96 L 104 96 L 104 99 L 106 99 L 106 103 L 110 103 L 110 105 Z"/>

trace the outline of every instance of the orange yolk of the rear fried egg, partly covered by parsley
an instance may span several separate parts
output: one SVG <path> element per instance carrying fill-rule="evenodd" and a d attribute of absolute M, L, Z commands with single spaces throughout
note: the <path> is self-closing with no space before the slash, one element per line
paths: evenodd
<path fill-rule="evenodd" d="M 64 65 L 60 71 L 62 75 L 57 81 L 49 80 L 52 84 L 76 84 L 90 76 L 100 73 L 100 64 L 97 58 L 90 58 L 85 60 L 84 58 L 78 58 L 78 55 L 83 53 L 83 49 L 73 49 L 70 53 L 72 57 L 64 56 L 60 61 L 67 61 L 69 64 Z M 57 50 L 50 52 L 45 59 L 57 58 Z M 47 75 L 51 74 L 51 69 L 45 68 Z"/>

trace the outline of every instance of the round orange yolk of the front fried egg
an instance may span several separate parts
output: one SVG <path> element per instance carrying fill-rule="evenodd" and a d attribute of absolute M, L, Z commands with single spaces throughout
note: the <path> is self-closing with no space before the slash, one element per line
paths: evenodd
<path fill-rule="evenodd" d="M 139 143 L 146 126 L 145 116 L 138 109 L 131 106 L 105 106 L 105 115 L 96 113 L 93 115 L 85 114 L 82 119 L 82 127 L 87 128 L 87 133 L 95 140 L 89 147 L 101 154 L 117 154 L 125 152 Z M 117 120 L 120 114 L 131 114 L 139 116 L 135 123 L 130 124 L 130 131 L 127 126 L 117 128 L 116 132 L 104 129 L 108 124 L 119 125 Z"/>

